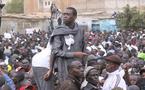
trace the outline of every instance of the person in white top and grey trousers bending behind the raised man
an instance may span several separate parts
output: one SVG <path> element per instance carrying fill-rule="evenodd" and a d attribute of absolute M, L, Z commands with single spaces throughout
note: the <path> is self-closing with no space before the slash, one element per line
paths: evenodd
<path fill-rule="evenodd" d="M 49 71 L 49 49 L 47 47 L 32 57 L 32 72 L 38 90 L 54 90 L 53 75 L 49 80 L 45 79 Z"/>

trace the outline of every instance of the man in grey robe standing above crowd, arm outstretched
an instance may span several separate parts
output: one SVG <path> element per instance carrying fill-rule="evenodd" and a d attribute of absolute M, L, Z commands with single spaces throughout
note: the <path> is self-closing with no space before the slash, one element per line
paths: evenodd
<path fill-rule="evenodd" d="M 76 18 L 76 9 L 73 7 L 66 8 L 63 13 L 63 25 L 57 27 L 50 38 L 59 81 L 65 80 L 68 74 L 67 66 L 72 61 L 79 60 L 82 62 L 83 57 L 87 55 L 84 53 L 84 30 L 75 22 Z M 49 72 L 52 72 L 53 65 L 54 63 L 51 63 L 48 76 Z"/>

